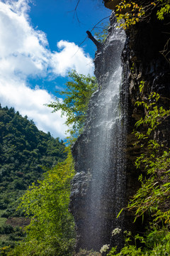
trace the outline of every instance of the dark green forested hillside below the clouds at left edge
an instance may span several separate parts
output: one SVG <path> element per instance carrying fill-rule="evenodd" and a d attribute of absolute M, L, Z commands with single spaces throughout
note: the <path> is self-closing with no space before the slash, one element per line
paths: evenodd
<path fill-rule="evenodd" d="M 8 109 L 8 107 L 0 106 L 0 220 L 3 223 L 3 227 L 1 225 L 2 234 L 6 233 L 6 224 L 11 224 L 13 221 L 9 217 L 22 215 L 22 213 L 16 212 L 18 198 L 25 193 L 31 183 L 40 180 L 44 171 L 55 166 L 58 161 L 63 161 L 65 156 L 64 144 L 62 141 L 60 142 L 59 138 L 54 139 L 50 133 L 45 134 L 45 132 L 39 131 L 32 120 L 22 117 L 12 107 Z M 16 218 L 15 221 L 18 222 Z"/>

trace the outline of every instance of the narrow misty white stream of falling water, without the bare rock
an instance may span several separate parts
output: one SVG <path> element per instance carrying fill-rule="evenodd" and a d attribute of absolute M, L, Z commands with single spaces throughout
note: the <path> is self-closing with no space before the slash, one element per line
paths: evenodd
<path fill-rule="evenodd" d="M 89 196 L 89 235 L 98 250 L 111 243 L 111 231 L 121 227 L 116 216 L 123 207 L 125 193 L 125 127 L 120 110 L 122 67 L 120 56 L 125 43 L 123 31 L 115 28 L 109 38 L 114 43 L 112 66 L 101 85 L 95 105 L 93 139 L 91 141 L 91 187 Z M 110 65 L 111 63 L 108 63 Z M 110 230 L 110 232 L 109 232 Z M 118 245 L 118 244 L 117 244 Z M 94 247 L 94 245 L 93 245 Z"/>

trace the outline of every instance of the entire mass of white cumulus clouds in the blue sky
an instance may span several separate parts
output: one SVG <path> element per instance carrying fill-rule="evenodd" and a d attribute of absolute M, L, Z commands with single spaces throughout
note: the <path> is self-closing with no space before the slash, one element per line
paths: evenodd
<path fill-rule="evenodd" d="M 56 78 L 71 69 L 86 75 L 94 64 L 74 43 L 60 41 L 51 52 L 47 37 L 30 25 L 28 0 L 0 1 L 0 102 L 33 119 L 39 129 L 64 137 L 64 119 L 45 103 L 54 100 L 46 90 L 27 84 L 28 78 Z"/>

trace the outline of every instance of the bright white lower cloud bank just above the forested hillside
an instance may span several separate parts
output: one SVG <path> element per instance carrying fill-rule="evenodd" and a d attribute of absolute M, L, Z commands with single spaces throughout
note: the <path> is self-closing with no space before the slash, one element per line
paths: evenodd
<path fill-rule="evenodd" d="M 61 112 L 51 113 L 51 109 L 44 103 L 55 100 L 46 90 L 38 87 L 31 90 L 24 83 L 17 81 L 4 81 L 0 78 L 0 102 L 2 107 L 15 107 L 23 116 L 33 119 L 38 129 L 50 132 L 54 137 L 65 137 L 68 129 L 65 125 L 65 117 L 61 118 Z"/>

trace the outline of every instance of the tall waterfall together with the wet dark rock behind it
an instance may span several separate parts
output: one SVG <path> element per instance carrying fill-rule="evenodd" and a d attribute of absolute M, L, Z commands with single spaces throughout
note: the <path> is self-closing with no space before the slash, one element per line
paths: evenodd
<path fill-rule="evenodd" d="M 78 247 L 94 250 L 113 245 L 112 230 L 123 229 L 123 218 L 116 216 L 125 206 L 125 117 L 120 108 L 124 43 L 125 33 L 114 23 L 103 50 L 96 53 L 99 88 L 73 149 L 77 175 L 72 181 L 71 209 Z"/>

